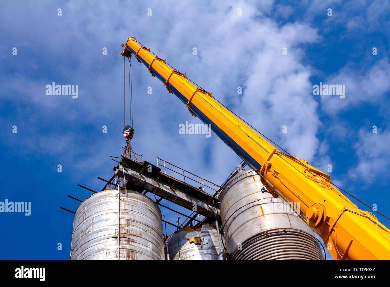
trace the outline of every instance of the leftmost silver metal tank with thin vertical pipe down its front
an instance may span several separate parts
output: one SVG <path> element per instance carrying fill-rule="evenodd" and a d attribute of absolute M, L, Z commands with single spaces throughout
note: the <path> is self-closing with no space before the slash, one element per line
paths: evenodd
<path fill-rule="evenodd" d="M 120 260 L 164 260 L 161 211 L 135 191 L 121 191 Z M 118 191 L 84 200 L 73 221 L 71 260 L 118 260 Z"/>

